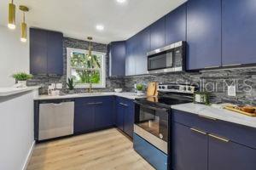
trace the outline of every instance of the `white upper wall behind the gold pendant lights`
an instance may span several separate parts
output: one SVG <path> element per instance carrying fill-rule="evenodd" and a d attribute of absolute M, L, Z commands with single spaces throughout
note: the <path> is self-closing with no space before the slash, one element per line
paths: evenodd
<path fill-rule="evenodd" d="M 20 42 L 20 29 L 0 26 L 0 87 L 14 85 L 10 76 L 16 71 L 29 72 L 29 42 Z"/>

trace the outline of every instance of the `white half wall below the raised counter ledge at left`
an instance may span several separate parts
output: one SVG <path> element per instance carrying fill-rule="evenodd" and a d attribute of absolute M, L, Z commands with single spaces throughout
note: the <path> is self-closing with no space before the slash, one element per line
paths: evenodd
<path fill-rule="evenodd" d="M 0 99 L 0 169 L 21 170 L 34 144 L 33 98 L 38 90 Z"/>

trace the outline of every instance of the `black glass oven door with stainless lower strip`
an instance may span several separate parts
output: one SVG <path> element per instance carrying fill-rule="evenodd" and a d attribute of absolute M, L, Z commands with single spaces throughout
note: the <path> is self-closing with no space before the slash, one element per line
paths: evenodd
<path fill-rule="evenodd" d="M 134 132 L 166 154 L 169 111 L 166 108 L 136 102 Z"/>

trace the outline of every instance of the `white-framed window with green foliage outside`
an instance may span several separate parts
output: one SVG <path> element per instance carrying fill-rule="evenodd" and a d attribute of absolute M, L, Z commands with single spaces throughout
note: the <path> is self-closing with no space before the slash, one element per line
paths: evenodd
<path fill-rule="evenodd" d="M 67 78 L 73 77 L 75 88 L 106 88 L 105 54 L 67 48 Z"/>

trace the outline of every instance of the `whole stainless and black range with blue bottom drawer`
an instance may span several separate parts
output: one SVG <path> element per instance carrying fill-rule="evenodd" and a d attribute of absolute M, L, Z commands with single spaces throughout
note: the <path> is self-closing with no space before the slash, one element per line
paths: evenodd
<path fill-rule="evenodd" d="M 156 169 L 168 169 L 171 105 L 193 101 L 195 86 L 161 84 L 159 96 L 136 99 L 134 149 Z"/>

